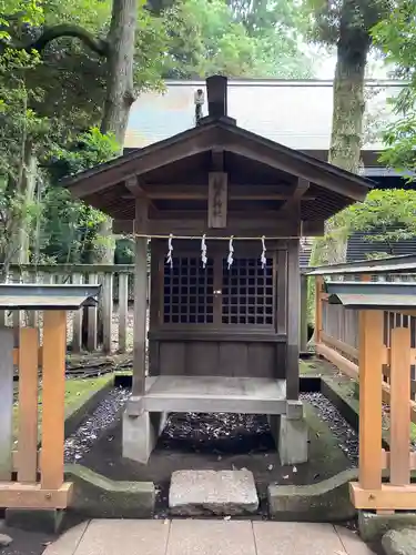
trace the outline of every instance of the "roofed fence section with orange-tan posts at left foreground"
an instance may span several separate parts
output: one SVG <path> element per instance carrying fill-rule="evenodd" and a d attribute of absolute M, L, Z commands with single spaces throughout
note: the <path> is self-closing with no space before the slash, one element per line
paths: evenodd
<path fill-rule="evenodd" d="M 28 311 L 28 325 L 0 327 L 0 508 L 59 509 L 70 504 L 72 484 L 64 482 L 63 470 L 67 311 L 95 306 L 99 292 L 100 285 L 0 284 L 0 310 L 18 316 Z M 33 311 L 43 312 L 42 340 Z M 13 362 L 19 370 L 17 448 Z"/>

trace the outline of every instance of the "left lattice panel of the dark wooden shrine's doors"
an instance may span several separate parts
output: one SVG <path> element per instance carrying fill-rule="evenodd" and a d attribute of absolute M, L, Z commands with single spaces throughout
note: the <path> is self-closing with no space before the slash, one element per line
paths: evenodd
<path fill-rule="evenodd" d="M 214 269 L 204 269 L 199 256 L 174 256 L 164 268 L 165 324 L 212 324 L 214 320 Z"/>

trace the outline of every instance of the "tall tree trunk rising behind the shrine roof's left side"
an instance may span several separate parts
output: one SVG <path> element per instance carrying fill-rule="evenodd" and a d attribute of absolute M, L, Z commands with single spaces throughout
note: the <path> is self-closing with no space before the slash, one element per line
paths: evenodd
<path fill-rule="evenodd" d="M 138 1 L 113 0 L 113 11 L 109 36 L 106 59 L 106 92 L 101 121 L 102 133 L 113 133 L 123 151 L 128 129 L 130 108 L 135 100 L 133 70 L 135 30 L 138 26 Z M 111 219 L 106 219 L 99 230 L 99 235 L 110 239 Z M 114 263 L 114 242 L 106 241 L 105 248 L 97 252 L 95 262 Z"/>

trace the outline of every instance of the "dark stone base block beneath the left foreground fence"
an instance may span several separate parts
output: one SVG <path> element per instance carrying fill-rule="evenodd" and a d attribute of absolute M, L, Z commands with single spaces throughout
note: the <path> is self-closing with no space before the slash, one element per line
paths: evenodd
<path fill-rule="evenodd" d="M 63 524 L 64 511 L 54 508 L 7 508 L 6 525 L 27 532 L 57 534 Z"/>

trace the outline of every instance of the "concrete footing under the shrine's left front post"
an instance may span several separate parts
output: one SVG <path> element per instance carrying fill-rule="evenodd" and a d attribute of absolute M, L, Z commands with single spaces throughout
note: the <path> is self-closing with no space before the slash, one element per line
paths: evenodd
<path fill-rule="evenodd" d="M 123 457 L 138 463 L 148 464 L 158 437 L 166 423 L 168 413 L 123 414 Z"/>

